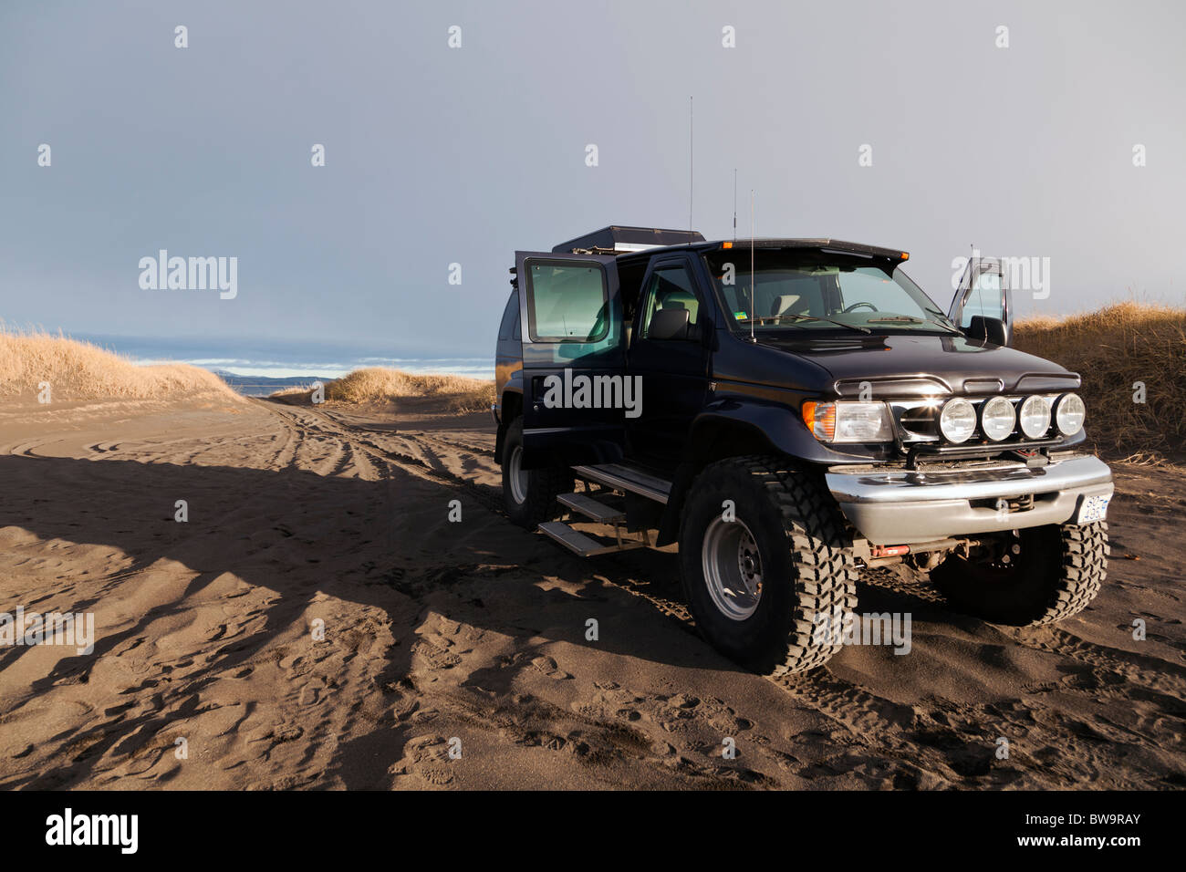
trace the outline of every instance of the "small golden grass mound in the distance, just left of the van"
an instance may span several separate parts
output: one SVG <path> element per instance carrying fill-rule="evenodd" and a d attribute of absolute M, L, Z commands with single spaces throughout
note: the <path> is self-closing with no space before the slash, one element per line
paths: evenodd
<path fill-rule="evenodd" d="M 273 396 L 308 393 L 289 388 Z M 325 399 L 349 403 L 397 402 L 439 399 L 453 414 L 483 412 L 495 401 L 495 383 L 459 375 L 416 375 L 385 367 L 356 369 L 325 386 Z"/>

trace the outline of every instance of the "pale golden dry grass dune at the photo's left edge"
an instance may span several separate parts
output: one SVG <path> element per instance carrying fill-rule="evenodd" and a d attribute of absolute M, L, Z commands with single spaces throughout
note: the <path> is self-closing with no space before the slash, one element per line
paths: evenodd
<path fill-rule="evenodd" d="M 198 367 L 138 367 L 88 342 L 0 325 L 0 396 L 32 400 L 44 382 L 53 401 L 241 400 L 222 378 Z"/>

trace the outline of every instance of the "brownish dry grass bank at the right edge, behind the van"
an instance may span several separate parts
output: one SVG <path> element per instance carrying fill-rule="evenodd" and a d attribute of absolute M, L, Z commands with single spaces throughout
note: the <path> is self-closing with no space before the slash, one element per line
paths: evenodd
<path fill-rule="evenodd" d="M 1129 458 L 1186 451 L 1186 310 L 1126 300 L 1016 324 L 1014 345 L 1083 376 L 1088 435 Z M 1144 384 L 1144 402 L 1134 402 Z"/>

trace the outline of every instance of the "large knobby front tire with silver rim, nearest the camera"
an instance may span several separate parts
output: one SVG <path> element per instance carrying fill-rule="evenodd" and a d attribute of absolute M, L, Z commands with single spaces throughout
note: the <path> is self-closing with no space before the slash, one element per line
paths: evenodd
<path fill-rule="evenodd" d="M 726 520 L 725 502 L 735 507 Z M 693 482 L 680 568 L 696 626 L 759 673 L 799 673 L 842 645 L 856 606 L 856 561 L 818 478 L 779 457 L 739 457 Z"/>

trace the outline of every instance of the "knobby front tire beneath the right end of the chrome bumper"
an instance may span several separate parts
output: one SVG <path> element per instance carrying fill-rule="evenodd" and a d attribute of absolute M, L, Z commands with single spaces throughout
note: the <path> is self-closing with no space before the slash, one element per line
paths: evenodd
<path fill-rule="evenodd" d="M 948 602 L 994 624 L 1038 626 L 1078 615 L 1108 575 L 1108 524 L 1018 530 L 1008 566 L 949 556 L 931 571 Z"/>

